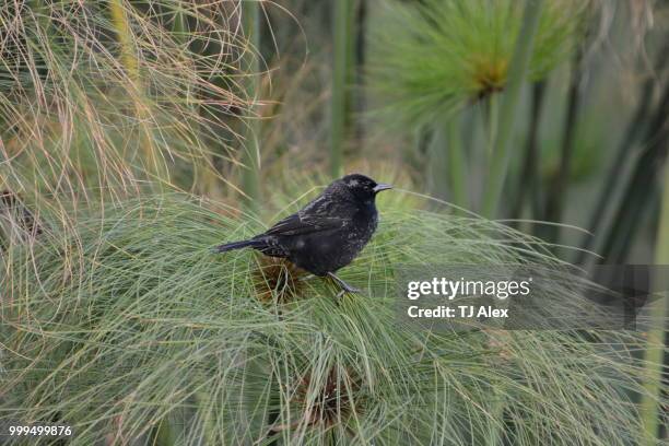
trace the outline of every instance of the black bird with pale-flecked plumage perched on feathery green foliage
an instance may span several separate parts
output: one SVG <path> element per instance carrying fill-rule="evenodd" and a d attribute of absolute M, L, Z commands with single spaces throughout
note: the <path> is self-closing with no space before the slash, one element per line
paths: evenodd
<path fill-rule="evenodd" d="M 266 256 L 287 259 L 315 275 L 330 277 L 341 286 L 339 295 L 359 292 L 334 272 L 369 242 L 378 223 L 376 195 L 391 188 L 364 175 L 347 175 L 267 232 L 221 245 L 215 251 L 251 247 Z"/>

